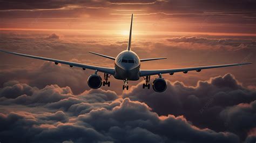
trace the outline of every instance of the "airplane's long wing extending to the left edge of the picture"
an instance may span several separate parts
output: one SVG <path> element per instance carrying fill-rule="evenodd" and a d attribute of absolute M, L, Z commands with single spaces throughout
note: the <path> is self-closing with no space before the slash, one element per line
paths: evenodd
<path fill-rule="evenodd" d="M 60 64 L 69 65 L 70 67 L 76 66 L 76 67 L 81 67 L 83 69 L 97 70 L 99 72 L 108 73 L 108 74 L 112 74 L 112 75 L 114 74 L 114 69 L 109 68 L 109 67 L 86 65 L 86 64 L 80 64 L 80 63 L 75 63 L 75 62 L 68 62 L 68 61 L 65 61 L 65 60 L 38 57 L 38 56 L 26 55 L 26 54 L 23 54 L 23 53 L 16 53 L 16 52 L 8 52 L 8 51 L 3 51 L 3 50 L 0 50 L 0 52 L 10 53 L 12 55 L 18 55 L 18 56 L 29 57 L 29 58 L 34 58 L 34 59 L 47 60 L 47 61 L 50 61 L 50 62 L 55 62 L 55 64 L 60 63 Z"/>

